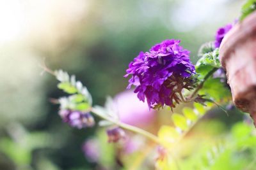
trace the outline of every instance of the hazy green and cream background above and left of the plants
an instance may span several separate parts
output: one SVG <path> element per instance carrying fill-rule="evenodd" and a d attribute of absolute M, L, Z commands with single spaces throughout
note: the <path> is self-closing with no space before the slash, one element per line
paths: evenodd
<path fill-rule="evenodd" d="M 123 77 L 140 51 L 181 39 L 198 59 L 200 45 L 239 17 L 242 0 L 8 0 L 0 1 L 0 169 L 96 169 L 81 146 L 94 129 L 63 124 L 50 98 L 63 95 L 51 69 L 76 74 L 94 104 L 125 90 Z M 218 113 L 220 113 L 218 115 Z M 217 114 L 217 115 L 216 115 Z M 166 115 L 168 117 L 169 115 Z M 228 122 L 243 115 L 216 111 Z M 226 125 L 227 124 L 227 125 Z M 213 127 L 214 128 L 214 127 Z"/>

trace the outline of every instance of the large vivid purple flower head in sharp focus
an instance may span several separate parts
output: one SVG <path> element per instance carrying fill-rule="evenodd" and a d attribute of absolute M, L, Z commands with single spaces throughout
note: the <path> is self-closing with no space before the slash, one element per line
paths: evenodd
<path fill-rule="evenodd" d="M 189 51 L 179 45 L 180 40 L 167 39 L 150 48 L 149 52 L 140 52 L 127 69 L 125 77 L 132 75 L 127 89 L 131 85 L 141 101 L 147 99 L 150 108 L 156 104 L 173 107 L 174 93 L 184 88 L 182 80 L 195 73 L 195 66 L 189 59 Z M 179 79 L 181 87 L 173 84 Z M 175 99 L 176 101 L 176 99 Z"/>

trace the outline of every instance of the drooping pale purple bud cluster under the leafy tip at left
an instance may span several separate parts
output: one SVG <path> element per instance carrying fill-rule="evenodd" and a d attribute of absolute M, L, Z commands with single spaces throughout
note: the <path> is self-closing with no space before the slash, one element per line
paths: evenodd
<path fill-rule="evenodd" d="M 63 119 L 63 122 L 68 123 L 72 127 L 77 127 L 78 129 L 92 127 L 95 124 L 90 113 L 72 110 L 60 110 L 59 115 Z"/>

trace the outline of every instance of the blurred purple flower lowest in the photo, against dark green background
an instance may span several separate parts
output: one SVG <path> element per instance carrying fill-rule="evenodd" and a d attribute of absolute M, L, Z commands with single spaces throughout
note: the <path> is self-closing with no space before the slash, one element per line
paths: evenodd
<path fill-rule="evenodd" d="M 88 139 L 82 146 L 84 156 L 87 157 L 90 162 L 98 162 L 100 158 L 99 148 L 100 144 L 97 139 Z"/>

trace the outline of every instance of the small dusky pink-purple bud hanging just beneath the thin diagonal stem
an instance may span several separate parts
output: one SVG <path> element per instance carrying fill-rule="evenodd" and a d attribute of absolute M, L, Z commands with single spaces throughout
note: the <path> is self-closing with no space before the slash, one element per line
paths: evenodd
<path fill-rule="evenodd" d="M 125 132 L 120 127 L 113 127 L 107 129 L 107 134 L 109 143 L 116 143 L 120 141 L 120 139 L 125 139 Z"/>

